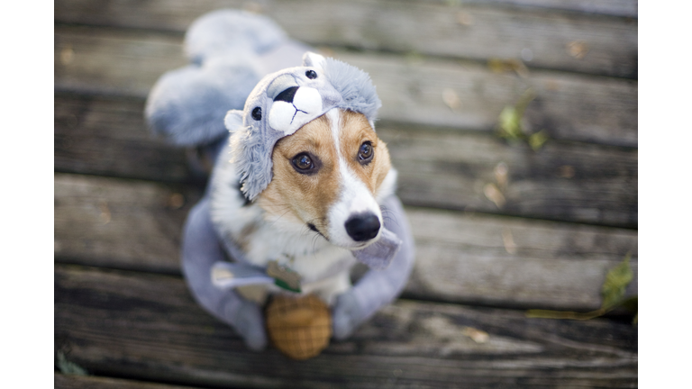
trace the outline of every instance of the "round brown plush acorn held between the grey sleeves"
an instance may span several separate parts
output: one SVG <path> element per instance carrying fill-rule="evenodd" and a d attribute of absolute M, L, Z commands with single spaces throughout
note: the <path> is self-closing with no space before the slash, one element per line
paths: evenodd
<path fill-rule="evenodd" d="M 269 339 L 293 359 L 316 357 L 332 337 L 329 307 L 314 294 L 277 294 L 269 302 L 265 318 Z"/>

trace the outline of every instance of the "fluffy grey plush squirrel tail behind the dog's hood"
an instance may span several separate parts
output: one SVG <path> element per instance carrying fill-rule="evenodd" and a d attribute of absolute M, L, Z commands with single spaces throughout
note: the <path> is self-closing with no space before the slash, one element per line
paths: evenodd
<path fill-rule="evenodd" d="M 201 16 L 185 37 L 191 64 L 164 74 L 150 91 L 145 109 L 150 130 L 178 146 L 218 144 L 228 136 L 225 114 L 242 110 L 270 69 L 265 58 L 298 46 L 259 14 L 219 10 Z"/>

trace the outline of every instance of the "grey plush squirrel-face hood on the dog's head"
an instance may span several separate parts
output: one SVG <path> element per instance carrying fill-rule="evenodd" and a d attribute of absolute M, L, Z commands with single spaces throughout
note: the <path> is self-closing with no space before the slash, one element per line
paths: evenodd
<path fill-rule="evenodd" d="M 305 53 L 302 67 L 262 78 L 245 108 L 224 119 L 243 195 L 254 200 L 271 182 L 271 153 L 279 139 L 332 108 L 363 113 L 374 128 L 381 105 L 367 73 L 313 52 Z"/>

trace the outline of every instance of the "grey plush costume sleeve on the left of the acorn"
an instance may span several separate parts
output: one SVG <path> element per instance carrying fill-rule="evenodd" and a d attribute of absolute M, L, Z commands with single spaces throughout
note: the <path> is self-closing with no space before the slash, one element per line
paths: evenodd
<path fill-rule="evenodd" d="M 265 348 L 267 334 L 259 305 L 232 290 L 224 291 L 212 285 L 212 266 L 223 260 L 222 244 L 209 217 L 209 199 L 205 197 L 190 211 L 183 230 L 182 267 L 187 286 L 196 302 L 217 319 L 230 324 L 249 348 Z"/>

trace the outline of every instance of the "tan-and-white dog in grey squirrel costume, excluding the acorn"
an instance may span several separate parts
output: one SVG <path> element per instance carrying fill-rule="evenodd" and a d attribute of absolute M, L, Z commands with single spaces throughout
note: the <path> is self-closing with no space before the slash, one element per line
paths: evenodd
<path fill-rule="evenodd" d="M 253 350 L 268 343 L 271 294 L 317 295 L 333 337 L 348 338 L 414 263 L 375 86 L 257 14 L 200 17 L 185 50 L 191 63 L 159 78 L 145 114 L 154 133 L 213 161 L 182 235 L 193 297 Z M 351 285 L 359 262 L 369 271 Z"/>

